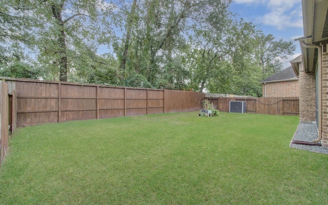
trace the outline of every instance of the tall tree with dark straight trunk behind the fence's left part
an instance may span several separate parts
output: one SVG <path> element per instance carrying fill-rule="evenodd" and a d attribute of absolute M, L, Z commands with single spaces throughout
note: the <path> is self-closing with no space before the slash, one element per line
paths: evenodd
<path fill-rule="evenodd" d="M 39 19 L 39 24 L 34 24 L 39 60 L 50 70 L 57 69 L 60 81 L 68 80 L 69 69 L 74 65 L 69 50 L 78 51 L 84 43 L 99 45 L 100 40 L 111 34 L 114 4 L 101 0 L 31 0 L 29 3 L 29 7 L 20 9 L 29 10 Z"/>

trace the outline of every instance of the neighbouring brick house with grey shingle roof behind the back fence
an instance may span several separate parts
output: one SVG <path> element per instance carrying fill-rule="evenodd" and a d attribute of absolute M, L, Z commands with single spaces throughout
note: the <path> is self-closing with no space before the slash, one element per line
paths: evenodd
<path fill-rule="evenodd" d="M 263 97 L 298 97 L 298 77 L 292 66 L 261 81 Z"/>

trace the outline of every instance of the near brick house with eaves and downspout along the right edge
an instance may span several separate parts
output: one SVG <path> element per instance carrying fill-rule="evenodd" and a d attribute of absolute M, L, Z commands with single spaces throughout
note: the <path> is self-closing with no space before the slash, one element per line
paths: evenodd
<path fill-rule="evenodd" d="M 316 121 L 318 139 L 328 148 L 328 1 L 302 0 L 302 59 L 291 61 L 299 76 L 300 122 Z"/>

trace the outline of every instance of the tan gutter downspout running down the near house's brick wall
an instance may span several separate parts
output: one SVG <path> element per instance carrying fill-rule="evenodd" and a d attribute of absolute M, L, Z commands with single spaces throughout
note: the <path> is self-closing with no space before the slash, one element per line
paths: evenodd
<path fill-rule="evenodd" d="M 322 138 L 322 73 L 321 73 L 321 67 L 322 67 L 322 50 L 321 50 L 321 46 L 318 45 L 308 45 L 304 43 L 304 39 L 300 39 L 300 43 L 301 46 L 304 48 L 317 48 L 318 49 L 318 70 L 317 72 L 319 72 L 318 76 L 318 139 L 313 140 L 314 142 L 318 142 L 321 140 Z"/>

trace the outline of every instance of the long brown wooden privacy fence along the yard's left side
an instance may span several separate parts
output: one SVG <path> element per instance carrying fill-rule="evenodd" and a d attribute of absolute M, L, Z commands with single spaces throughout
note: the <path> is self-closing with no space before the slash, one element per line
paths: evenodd
<path fill-rule="evenodd" d="M 201 109 L 203 93 L 5 79 L 17 95 L 17 126 Z"/>

